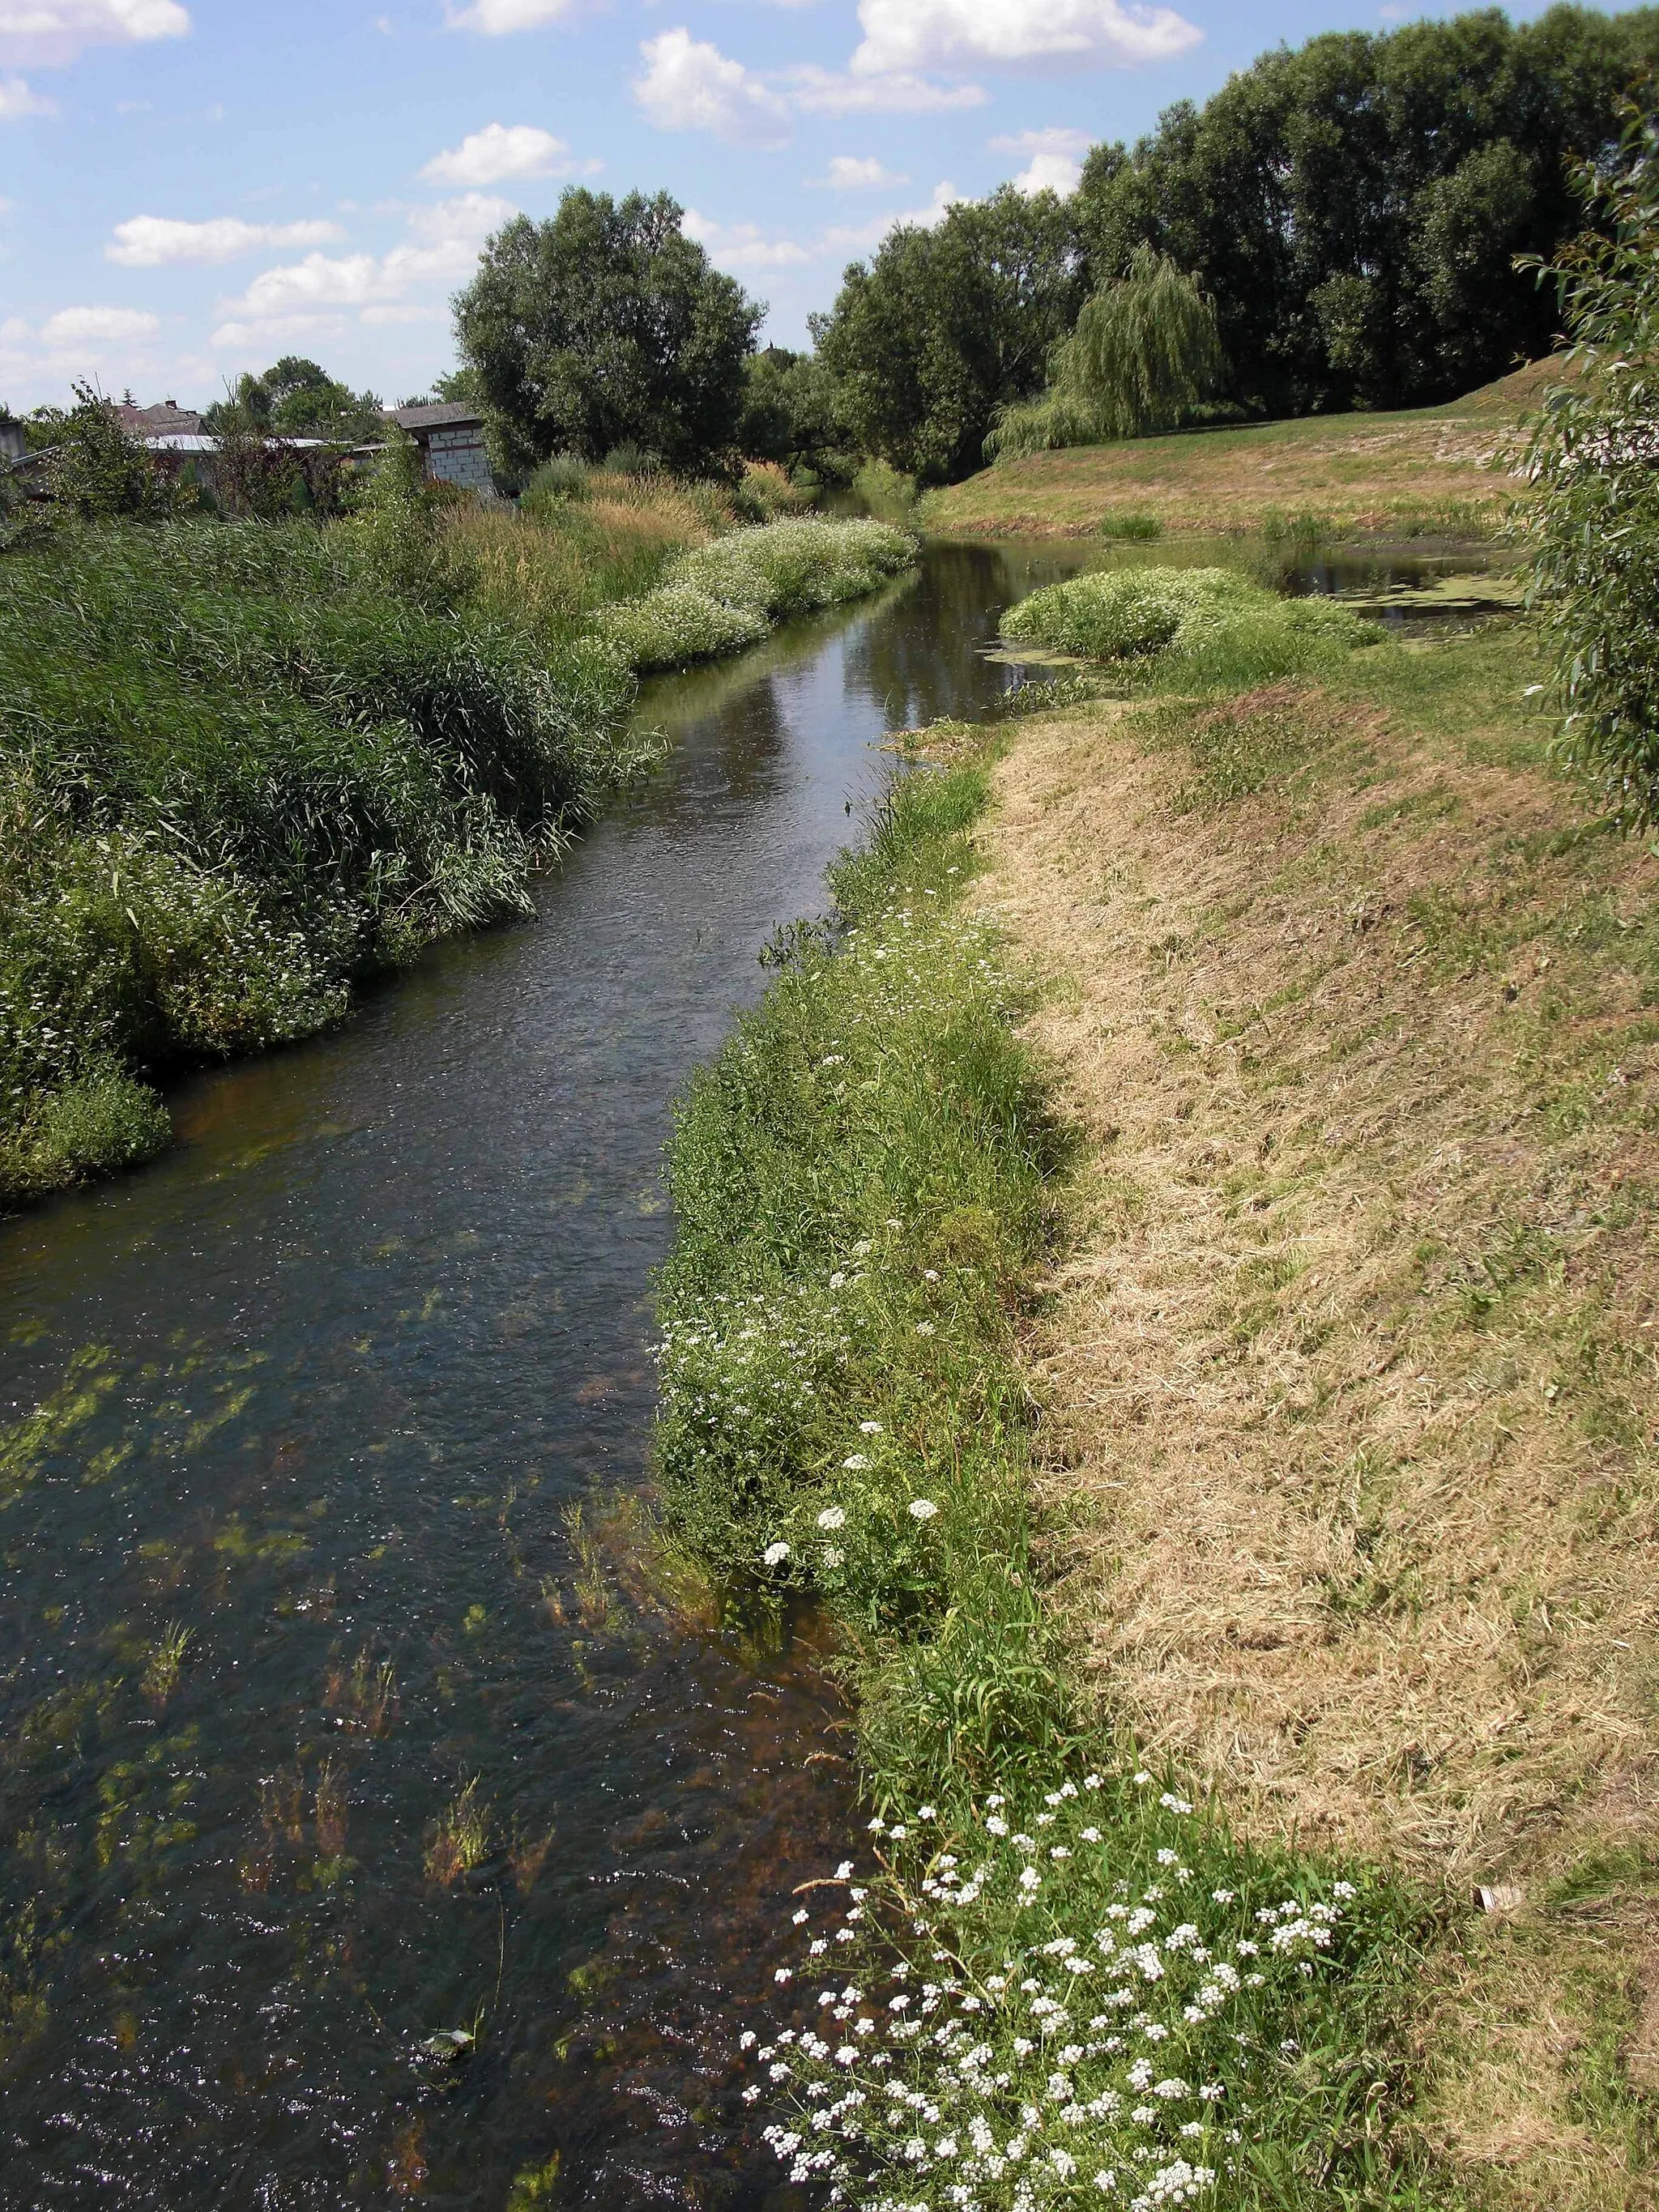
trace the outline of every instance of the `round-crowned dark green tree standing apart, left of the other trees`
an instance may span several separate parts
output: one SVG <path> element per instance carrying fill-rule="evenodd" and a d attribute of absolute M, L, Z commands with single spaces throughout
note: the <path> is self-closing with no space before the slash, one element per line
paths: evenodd
<path fill-rule="evenodd" d="M 456 338 L 513 467 L 619 445 L 677 471 L 726 458 L 765 310 L 681 221 L 666 192 L 571 188 L 555 217 L 520 215 L 484 246 Z"/>

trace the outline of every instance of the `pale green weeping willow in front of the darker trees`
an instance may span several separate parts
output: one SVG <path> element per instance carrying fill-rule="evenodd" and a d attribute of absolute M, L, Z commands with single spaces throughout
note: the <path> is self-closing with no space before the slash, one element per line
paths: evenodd
<path fill-rule="evenodd" d="M 1004 409 L 987 453 L 1148 438 L 1175 429 L 1225 374 L 1214 307 L 1168 254 L 1137 246 L 1128 274 L 1104 285 L 1055 349 L 1048 389 Z"/>

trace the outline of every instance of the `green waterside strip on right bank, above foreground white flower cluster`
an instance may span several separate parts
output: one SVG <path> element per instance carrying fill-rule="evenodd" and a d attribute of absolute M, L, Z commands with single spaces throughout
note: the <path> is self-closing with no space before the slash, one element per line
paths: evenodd
<path fill-rule="evenodd" d="M 847 1630 L 880 1798 L 1051 1756 L 1068 1730 L 1031 1588 L 1009 1303 L 1053 1133 L 989 936 L 956 911 L 980 770 L 914 774 L 697 1079 L 659 1471 L 681 1542 Z"/>

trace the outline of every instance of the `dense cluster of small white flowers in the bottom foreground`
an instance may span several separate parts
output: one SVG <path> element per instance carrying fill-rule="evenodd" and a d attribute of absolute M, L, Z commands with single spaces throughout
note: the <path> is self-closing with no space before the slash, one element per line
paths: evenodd
<path fill-rule="evenodd" d="M 964 1834 L 931 1805 L 869 1832 L 874 1867 L 843 1860 L 794 1913 L 801 1980 L 825 1978 L 805 2020 L 741 2039 L 745 2101 L 787 2108 L 765 2141 L 790 2179 L 863 2212 L 1203 2199 L 1285 2064 L 1352 1885 L 1212 1885 L 1188 1865 L 1212 1856 L 1192 1805 L 1150 1774 L 1064 1781 L 1022 1812 L 993 1794 Z M 1126 1856 L 1146 1878 L 1115 1876 Z"/>

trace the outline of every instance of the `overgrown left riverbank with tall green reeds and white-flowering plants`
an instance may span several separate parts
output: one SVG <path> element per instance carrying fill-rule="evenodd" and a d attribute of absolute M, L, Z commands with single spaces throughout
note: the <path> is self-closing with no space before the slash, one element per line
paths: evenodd
<path fill-rule="evenodd" d="M 164 1146 L 170 1066 L 307 1035 L 363 975 L 529 914 L 538 860 L 653 757 L 635 668 L 914 557 L 874 524 L 721 522 L 708 487 L 597 476 L 542 520 L 387 498 L 9 553 L 0 1203 Z M 668 635 L 677 564 L 714 553 L 703 630 Z"/>

